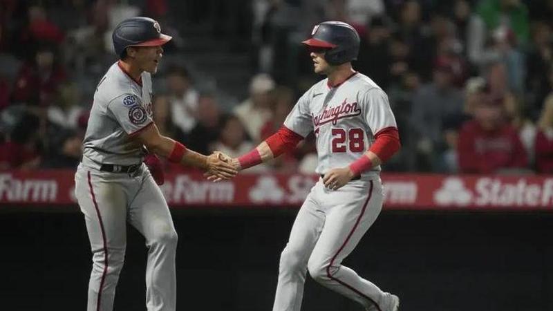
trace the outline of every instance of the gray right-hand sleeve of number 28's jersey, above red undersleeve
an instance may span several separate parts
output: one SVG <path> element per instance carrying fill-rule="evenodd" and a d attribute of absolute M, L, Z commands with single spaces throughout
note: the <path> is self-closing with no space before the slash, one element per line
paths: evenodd
<path fill-rule="evenodd" d="M 365 120 L 373 134 L 386 129 L 386 127 L 397 127 L 388 102 L 388 95 L 381 89 L 371 88 L 366 91 L 361 97 L 361 106 Z"/>

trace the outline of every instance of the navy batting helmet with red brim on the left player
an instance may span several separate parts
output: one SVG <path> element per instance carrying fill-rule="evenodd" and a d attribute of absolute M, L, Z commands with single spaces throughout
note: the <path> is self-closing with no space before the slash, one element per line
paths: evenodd
<path fill-rule="evenodd" d="M 171 36 L 162 34 L 160 24 L 154 19 L 132 17 L 115 27 L 111 39 L 115 53 L 122 57 L 129 46 L 162 46 L 171 40 Z"/>

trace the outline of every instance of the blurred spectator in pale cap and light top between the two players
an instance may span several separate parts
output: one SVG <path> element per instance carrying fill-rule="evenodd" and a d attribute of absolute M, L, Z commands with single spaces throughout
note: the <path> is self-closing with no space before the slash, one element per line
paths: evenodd
<path fill-rule="evenodd" d="M 261 128 L 271 118 L 271 91 L 274 87 L 270 75 L 255 75 L 250 82 L 250 97 L 234 109 L 234 114 L 245 125 L 247 134 L 254 142 L 261 140 Z"/>

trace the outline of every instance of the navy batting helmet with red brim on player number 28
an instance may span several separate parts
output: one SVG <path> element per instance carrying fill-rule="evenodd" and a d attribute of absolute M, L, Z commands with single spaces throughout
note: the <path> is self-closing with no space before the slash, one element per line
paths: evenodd
<path fill-rule="evenodd" d="M 330 65 L 339 65 L 357 59 L 359 34 L 348 23 L 325 21 L 315 26 L 310 39 L 301 43 L 315 48 L 328 48 L 324 58 Z"/>

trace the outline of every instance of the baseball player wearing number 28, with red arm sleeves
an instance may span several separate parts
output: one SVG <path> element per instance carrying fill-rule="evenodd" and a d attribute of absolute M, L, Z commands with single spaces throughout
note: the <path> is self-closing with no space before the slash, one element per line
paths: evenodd
<path fill-rule="evenodd" d="M 350 61 L 357 59 L 359 35 L 347 23 L 320 23 L 303 44 L 310 48 L 315 73 L 327 78 L 301 96 L 277 133 L 232 159 L 237 169 L 247 169 L 315 131 L 321 178 L 303 202 L 281 254 L 273 310 L 300 310 L 309 271 L 315 281 L 366 310 L 396 311 L 397 296 L 341 265 L 382 209 L 379 164 L 400 149 L 388 97 L 353 70 Z"/>

